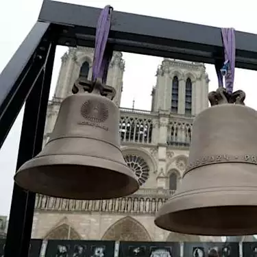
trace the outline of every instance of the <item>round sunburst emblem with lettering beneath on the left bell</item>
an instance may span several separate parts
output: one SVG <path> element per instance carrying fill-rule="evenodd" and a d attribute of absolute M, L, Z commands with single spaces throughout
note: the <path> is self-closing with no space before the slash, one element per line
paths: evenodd
<path fill-rule="evenodd" d="M 109 117 L 109 110 L 105 103 L 94 99 L 88 99 L 85 101 L 81 108 L 80 114 L 84 118 L 84 121 L 80 121 L 80 125 L 90 125 L 93 127 L 100 127 L 103 130 L 108 130 L 106 125 L 103 125 L 104 121 Z"/>

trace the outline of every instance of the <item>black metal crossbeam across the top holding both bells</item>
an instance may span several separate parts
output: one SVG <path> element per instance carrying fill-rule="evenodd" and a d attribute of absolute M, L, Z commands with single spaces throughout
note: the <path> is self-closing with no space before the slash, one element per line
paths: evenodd
<path fill-rule="evenodd" d="M 115 6 L 114 6 L 115 8 Z M 101 9 L 45 0 L 39 21 L 63 25 L 60 45 L 93 47 Z M 221 29 L 151 16 L 113 12 L 114 50 L 214 64 L 223 58 Z M 257 35 L 236 32 L 236 67 L 257 70 Z"/>

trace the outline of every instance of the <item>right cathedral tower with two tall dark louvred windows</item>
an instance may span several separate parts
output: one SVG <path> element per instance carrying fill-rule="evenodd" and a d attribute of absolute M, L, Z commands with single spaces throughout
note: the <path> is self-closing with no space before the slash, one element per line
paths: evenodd
<path fill-rule="evenodd" d="M 193 117 L 208 107 L 208 75 L 204 64 L 164 58 L 157 70 L 153 111 Z"/>

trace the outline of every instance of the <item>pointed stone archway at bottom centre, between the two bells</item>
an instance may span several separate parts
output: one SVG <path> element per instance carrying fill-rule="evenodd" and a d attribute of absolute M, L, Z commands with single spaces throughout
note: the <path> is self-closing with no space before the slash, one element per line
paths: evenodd
<path fill-rule="evenodd" d="M 151 241 L 151 236 L 140 222 L 127 216 L 111 225 L 103 234 L 101 240 Z"/>

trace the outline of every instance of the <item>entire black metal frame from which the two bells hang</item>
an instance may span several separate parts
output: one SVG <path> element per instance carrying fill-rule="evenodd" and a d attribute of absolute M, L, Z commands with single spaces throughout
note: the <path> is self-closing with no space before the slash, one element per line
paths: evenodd
<path fill-rule="evenodd" d="M 42 147 L 56 45 L 94 47 L 100 9 L 45 0 L 27 38 L 0 75 L 0 147 L 23 103 L 17 169 Z M 236 67 L 257 70 L 257 35 L 236 32 Z M 217 27 L 113 12 L 108 44 L 114 50 L 215 64 L 223 60 Z M 5 257 L 25 257 L 35 194 L 14 185 Z"/>

